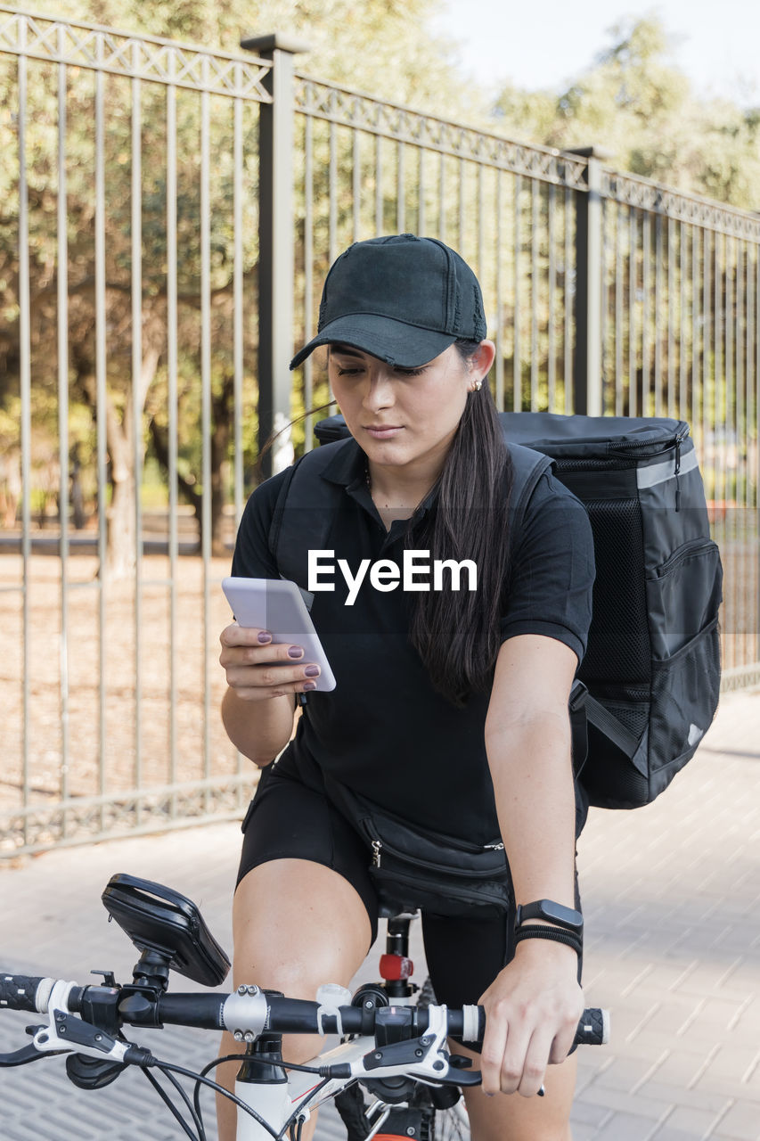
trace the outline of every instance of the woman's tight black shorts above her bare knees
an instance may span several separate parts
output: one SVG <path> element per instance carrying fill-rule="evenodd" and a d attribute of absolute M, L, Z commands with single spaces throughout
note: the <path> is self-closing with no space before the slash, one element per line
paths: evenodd
<path fill-rule="evenodd" d="M 358 892 L 378 934 L 378 897 L 370 877 L 372 852 L 324 794 L 316 764 L 285 754 L 261 772 L 243 820 L 237 882 L 273 859 L 307 859 L 338 872 Z M 580 907 L 576 876 L 576 906 Z M 515 954 L 515 913 L 506 917 L 451 919 L 422 912 L 428 972 L 438 1002 L 477 1003 Z M 369 948 L 367 948 L 369 950 Z M 579 963 L 579 981 L 581 964 Z"/>

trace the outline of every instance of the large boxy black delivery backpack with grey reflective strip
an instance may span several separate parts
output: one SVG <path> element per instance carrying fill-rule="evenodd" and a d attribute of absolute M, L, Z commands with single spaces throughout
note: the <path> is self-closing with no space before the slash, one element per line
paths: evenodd
<path fill-rule="evenodd" d="M 682 420 L 500 414 L 514 469 L 512 525 L 553 468 L 585 505 L 597 578 L 589 645 L 571 696 L 573 752 L 590 802 L 650 803 L 694 755 L 720 688 L 718 609 L 722 568 L 694 443 Z M 343 439 L 342 416 L 316 426 Z M 269 545 L 283 577 L 306 584 L 306 552 L 324 547 L 326 505 L 316 478 L 335 446 L 290 469 Z"/>

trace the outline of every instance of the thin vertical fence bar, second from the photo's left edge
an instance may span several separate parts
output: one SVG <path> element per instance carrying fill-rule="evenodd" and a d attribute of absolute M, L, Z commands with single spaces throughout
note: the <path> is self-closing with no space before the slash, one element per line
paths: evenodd
<path fill-rule="evenodd" d="M 58 29 L 63 56 L 64 29 Z M 66 181 L 66 64 L 58 64 L 58 199 L 57 199 L 57 346 L 58 346 L 58 464 L 60 491 L 60 763 L 68 769 L 68 202 Z"/>

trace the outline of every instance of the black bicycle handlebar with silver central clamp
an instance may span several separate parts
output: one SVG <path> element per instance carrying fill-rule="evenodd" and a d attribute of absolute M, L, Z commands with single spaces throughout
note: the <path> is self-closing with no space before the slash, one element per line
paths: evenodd
<path fill-rule="evenodd" d="M 49 1012 L 48 1004 L 56 980 L 24 974 L 0 973 L 0 1010 Z M 325 1009 L 317 1002 L 285 998 L 241 986 L 233 994 L 161 994 L 145 988 L 86 986 L 65 984 L 66 1006 L 90 1025 L 114 1033 L 122 1025 L 160 1027 L 164 1022 L 199 1029 L 227 1029 L 240 1041 L 252 1041 L 264 1030 L 272 1034 L 362 1034 L 393 1018 L 399 1008 L 338 1006 Z M 409 1019 L 410 1037 L 428 1029 L 428 1011 L 419 1006 L 401 1008 Z M 446 1012 L 447 1034 L 466 1042 L 482 1042 L 485 1011 L 482 1006 L 464 1006 Z M 576 1044 L 603 1045 L 608 1041 L 607 1011 L 583 1012 L 575 1036 Z M 0 1054 L 0 1065 L 10 1055 Z M 7 1062 L 6 1062 L 7 1065 Z"/>

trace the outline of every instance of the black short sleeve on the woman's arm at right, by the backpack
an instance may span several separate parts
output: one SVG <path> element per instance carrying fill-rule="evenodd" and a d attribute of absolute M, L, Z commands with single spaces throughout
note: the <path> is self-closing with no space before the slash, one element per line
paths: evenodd
<path fill-rule="evenodd" d="M 591 624 L 593 536 L 583 504 L 550 472 L 539 480 L 512 543 L 501 639 L 545 634 L 579 662 Z"/>

